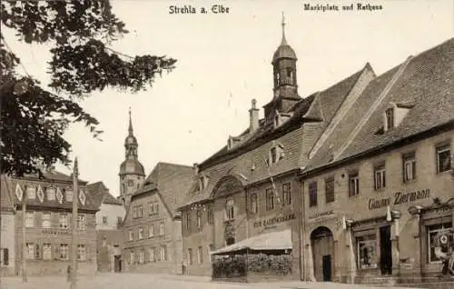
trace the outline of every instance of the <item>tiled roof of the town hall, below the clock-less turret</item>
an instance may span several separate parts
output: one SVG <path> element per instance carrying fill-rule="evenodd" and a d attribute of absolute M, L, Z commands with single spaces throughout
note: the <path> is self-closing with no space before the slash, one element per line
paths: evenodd
<path fill-rule="evenodd" d="M 200 192 L 198 185 L 192 184 L 184 205 L 209 200 L 214 186 L 228 174 L 238 176 L 242 183 L 247 185 L 266 180 L 270 175 L 275 176 L 297 170 L 301 165 L 305 165 L 306 158 L 301 157 L 304 139 L 302 125 L 307 122 L 319 122 L 321 128 L 314 131 L 314 134 L 321 134 L 324 123 L 329 122 L 335 115 L 343 99 L 356 84 L 361 72 L 362 70 L 293 105 L 291 108 L 293 115 L 284 125 L 277 128 L 272 125 L 262 125 L 244 144 L 231 150 L 223 147 L 218 153 L 213 154 L 200 164 L 201 174 L 209 178 L 207 187 Z M 315 110 L 321 114 L 310 113 Z M 284 147 L 285 156 L 277 164 L 268 167 L 265 159 L 273 141 Z"/>

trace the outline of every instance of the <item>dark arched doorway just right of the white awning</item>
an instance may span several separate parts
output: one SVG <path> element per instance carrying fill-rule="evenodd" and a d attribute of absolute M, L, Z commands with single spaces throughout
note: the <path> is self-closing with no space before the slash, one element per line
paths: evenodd
<path fill-rule="evenodd" d="M 314 276 L 317 281 L 330 282 L 334 272 L 334 238 L 330 229 L 318 227 L 311 233 Z"/>

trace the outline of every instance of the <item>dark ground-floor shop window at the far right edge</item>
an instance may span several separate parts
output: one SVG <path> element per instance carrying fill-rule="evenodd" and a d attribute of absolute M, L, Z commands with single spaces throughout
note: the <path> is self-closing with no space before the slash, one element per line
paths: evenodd
<path fill-rule="evenodd" d="M 428 262 L 439 262 L 439 257 L 435 254 L 435 247 L 441 244 L 441 236 L 446 235 L 444 245 L 441 245 L 441 252 L 449 253 L 450 248 L 454 248 L 454 239 L 452 234 L 443 234 L 447 229 L 452 228 L 452 223 L 433 224 L 427 226 L 428 232 Z M 438 238 L 438 240 L 437 240 Z"/>

